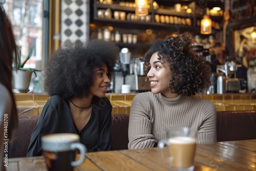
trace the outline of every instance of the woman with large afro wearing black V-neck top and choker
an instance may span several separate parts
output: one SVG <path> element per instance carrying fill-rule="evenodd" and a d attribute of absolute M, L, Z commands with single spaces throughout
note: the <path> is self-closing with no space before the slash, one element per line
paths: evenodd
<path fill-rule="evenodd" d="M 53 133 L 78 134 L 88 152 L 112 149 L 112 105 L 105 94 L 118 57 L 114 42 L 97 39 L 52 54 L 45 70 L 50 98 L 31 135 L 28 157 L 42 155 L 40 139 Z"/>

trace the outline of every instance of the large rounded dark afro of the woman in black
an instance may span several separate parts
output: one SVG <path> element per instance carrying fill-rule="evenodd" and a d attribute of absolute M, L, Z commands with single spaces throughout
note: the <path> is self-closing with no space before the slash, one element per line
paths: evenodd
<path fill-rule="evenodd" d="M 63 99 L 88 96 L 94 69 L 105 63 L 111 78 L 118 58 L 119 48 L 112 41 L 92 39 L 61 47 L 47 61 L 46 90 L 50 96 L 59 95 Z"/>

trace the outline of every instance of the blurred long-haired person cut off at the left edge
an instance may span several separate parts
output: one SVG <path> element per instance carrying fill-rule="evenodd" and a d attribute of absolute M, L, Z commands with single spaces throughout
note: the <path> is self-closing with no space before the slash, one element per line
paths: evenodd
<path fill-rule="evenodd" d="M 5 11 L 0 6 L 0 170 L 6 170 L 5 157 L 8 141 L 17 127 L 17 111 L 12 93 L 12 62 L 17 59 L 16 44 L 12 26 Z M 7 137 L 6 137 L 7 136 Z M 8 156 L 7 156 L 8 157 Z M 8 162 L 8 160 L 7 160 Z"/>

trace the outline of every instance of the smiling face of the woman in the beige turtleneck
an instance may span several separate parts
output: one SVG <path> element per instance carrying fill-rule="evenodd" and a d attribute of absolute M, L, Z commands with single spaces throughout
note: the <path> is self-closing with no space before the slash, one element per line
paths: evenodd
<path fill-rule="evenodd" d="M 159 59 L 158 52 L 154 53 L 150 59 L 150 71 L 147 77 L 150 79 L 151 92 L 162 93 L 165 97 L 171 97 L 169 91 L 169 79 L 172 75 L 168 65 Z"/>

